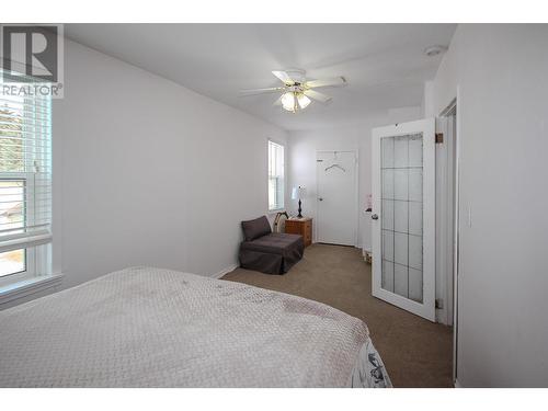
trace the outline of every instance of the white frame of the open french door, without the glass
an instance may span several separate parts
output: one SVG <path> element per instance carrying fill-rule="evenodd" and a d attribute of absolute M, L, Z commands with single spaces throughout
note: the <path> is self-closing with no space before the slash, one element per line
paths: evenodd
<path fill-rule="evenodd" d="M 423 163 L 432 168 L 432 172 L 423 178 L 423 279 L 426 276 L 433 278 L 431 282 L 423 281 L 423 301 L 422 304 L 413 301 L 409 298 L 399 296 L 395 293 L 383 288 L 381 284 L 381 261 L 377 258 L 381 250 L 381 228 L 383 215 L 380 193 L 380 139 L 384 136 L 402 136 L 415 133 L 423 133 L 423 144 L 426 138 L 432 138 L 430 141 L 430 150 L 423 149 Z M 372 192 L 373 192 L 373 213 L 380 214 L 379 218 L 372 226 L 372 246 L 373 246 L 373 270 L 372 270 L 372 294 L 387 302 L 393 304 L 404 310 L 413 312 L 418 316 L 435 321 L 435 250 L 436 250 L 436 232 L 435 232 L 435 118 L 423 118 L 414 122 L 392 124 L 386 127 L 374 128 L 372 133 Z M 375 227 L 376 226 L 376 227 Z M 380 233 L 380 235 L 379 235 Z M 377 252 L 375 252 L 377 251 Z M 426 272 L 427 270 L 427 272 Z M 426 272 L 426 274 L 425 274 Z M 375 273 L 380 273 L 375 276 Z"/>

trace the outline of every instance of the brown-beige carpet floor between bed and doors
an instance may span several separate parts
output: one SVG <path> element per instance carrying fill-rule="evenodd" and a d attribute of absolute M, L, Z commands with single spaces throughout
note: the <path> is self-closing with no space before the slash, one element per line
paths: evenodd
<path fill-rule="evenodd" d="M 237 269 L 222 279 L 310 298 L 361 318 L 395 387 L 452 387 L 452 329 L 373 297 L 370 265 L 357 249 L 312 244 L 285 275 Z"/>

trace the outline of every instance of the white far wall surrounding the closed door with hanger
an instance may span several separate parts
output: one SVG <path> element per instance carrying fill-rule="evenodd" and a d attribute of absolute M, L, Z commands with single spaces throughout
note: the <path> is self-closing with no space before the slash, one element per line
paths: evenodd
<path fill-rule="evenodd" d="M 306 114 L 306 113 L 304 113 Z M 316 218 L 316 152 L 321 150 L 356 151 L 358 155 L 358 243 L 370 250 L 370 220 L 366 215 L 366 197 L 372 192 L 370 134 L 372 128 L 392 123 L 418 119 L 421 107 L 400 107 L 364 116 L 359 124 L 299 130 L 289 133 L 289 179 L 288 185 L 307 187 L 307 198 L 302 199 L 302 214 Z M 287 208 L 296 214 L 297 201 L 289 199 Z"/>

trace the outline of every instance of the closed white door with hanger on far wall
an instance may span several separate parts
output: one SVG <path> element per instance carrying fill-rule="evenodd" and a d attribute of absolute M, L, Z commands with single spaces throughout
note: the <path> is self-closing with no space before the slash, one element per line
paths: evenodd
<path fill-rule="evenodd" d="M 357 233 L 356 153 L 317 153 L 317 240 L 355 246 Z"/>

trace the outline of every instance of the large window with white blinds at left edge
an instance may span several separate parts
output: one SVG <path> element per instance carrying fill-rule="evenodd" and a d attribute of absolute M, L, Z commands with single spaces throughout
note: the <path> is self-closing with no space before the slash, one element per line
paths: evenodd
<path fill-rule="evenodd" d="M 2 90 L 0 285 L 50 274 L 52 241 L 50 99 Z"/>

